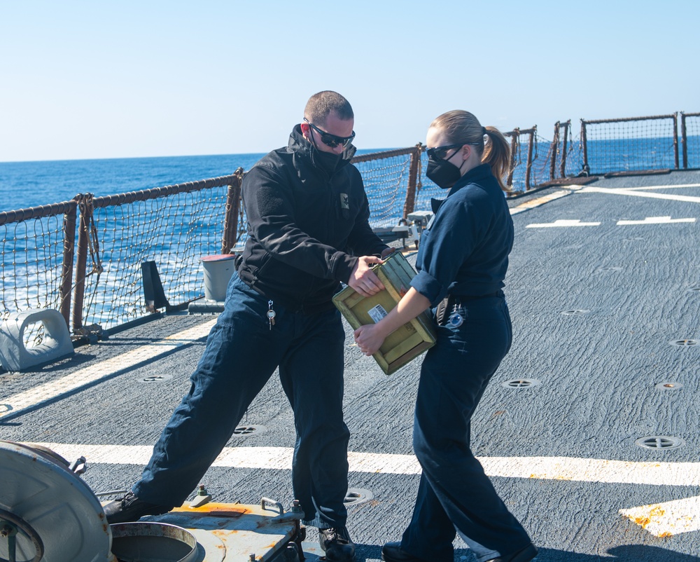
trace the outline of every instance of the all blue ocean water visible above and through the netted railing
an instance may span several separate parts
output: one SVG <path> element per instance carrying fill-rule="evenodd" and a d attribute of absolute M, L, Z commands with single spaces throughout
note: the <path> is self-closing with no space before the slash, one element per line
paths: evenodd
<path fill-rule="evenodd" d="M 700 167 L 700 137 L 690 137 L 689 167 Z M 524 189 L 527 145 L 514 161 L 514 188 Z M 358 151 L 359 153 L 377 150 Z M 673 168 L 672 139 L 601 140 L 589 143 L 591 173 Z M 108 196 L 154 187 L 199 181 L 232 174 L 238 167 L 250 170 L 263 156 L 232 154 L 169 158 L 116 158 L 0 163 L 0 212 L 71 200 L 78 193 Z M 531 185 L 549 179 L 549 143 L 538 139 L 531 169 Z M 402 217 L 409 170 L 405 156 L 358 164 L 370 199 L 370 223 L 395 226 Z M 561 155 L 557 157 L 559 175 Z M 430 198 L 445 192 L 425 177 L 416 194 L 416 210 L 430 208 Z M 569 146 L 566 174 L 581 171 L 580 143 Z M 221 248 L 221 219 L 225 190 L 151 200 L 135 207 L 125 205 L 96 210 L 99 256 L 92 249 L 87 263 L 83 323 L 109 328 L 146 313 L 141 263 L 155 261 L 171 303 L 202 295 L 201 256 Z M 163 206 L 161 206 L 163 204 Z M 63 267 L 62 216 L 0 226 L 0 315 L 27 308 L 58 308 Z M 245 238 L 241 234 L 240 244 Z M 96 246 L 97 247 L 97 246 Z M 97 255 L 97 254 L 95 254 Z M 102 273 L 90 273 L 100 261 Z M 77 273 L 76 273 L 77 275 Z"/>

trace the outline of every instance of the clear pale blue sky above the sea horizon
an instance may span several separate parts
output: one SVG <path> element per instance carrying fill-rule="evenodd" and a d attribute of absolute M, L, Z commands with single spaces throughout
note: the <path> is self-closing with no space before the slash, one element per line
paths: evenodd
<path fill-rule="evenodd" d="M 0 0 L 0 161 L 266 152 L 337 90 L 360 149 L 700 111 L 700 0 Z"/>

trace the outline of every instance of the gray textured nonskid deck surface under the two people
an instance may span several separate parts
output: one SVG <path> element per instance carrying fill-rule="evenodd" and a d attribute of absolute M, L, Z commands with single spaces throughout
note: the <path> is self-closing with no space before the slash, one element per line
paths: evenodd
<path fill-rule="evenodd" d="M 561 458 L 577 466 L 592 459 L 636 467 L 642 462 L 699 461 L 700 345 L 671 342 L 700 340 L 700 291 L 693 290 L 700 287 L 700 187 L 670 187 L 673 184 L 700 184 L 700 172 L 601 179 L 589 186 L 554 187 L 509 201 L 511 207 L 518 207 L 545 200 L 552 193 L 568 193 L 513 216 L 515 246 L 505 290 L 514 342 L 472 420 L 472 446 L 485 462 Z M 671 198 L 587 189 L 666 185 L 637 193 Z M 671 217 L 672 221 L 618 224 L 647 217 Z M 541 226 L 562 220 L 599 224 Z M 4 374 L 0 403 L 212 319 L 165 317 L 109 341 L 78 348 L 75 357 L 59 364 L 31 373 Z M 360 354 L 351 329 L 346 328 L 350 450 L 412 455 L 419 362 L 387 377 L 372 358 Z M 203 348 L 204 337 L 155 360 L 117 369 L 101 381 L 29 411 L 0 418 L 0 437 L 85 446 L 152 446 L 187 392 L 188 377 Z M 143 382 L 154 375 L 167 380 Z M 535 384 L 503 385 L 517 379 Z M 682 388 L 659 390 L 657 385 L 664 382 Z M 293 418 L 276 376 L 251 404 L 243 423 L 264 426 L 264 431 L 232 437 L 229 447 L 293 447 Z M 664 451 L 636 446 L 636 439 L 655 435 L 684 442 Z M 87 460 L 90 470 L 83 478 L 96 492 L 126 488 L 142 469 L 141 465 Z M 682 484 L 689 470 L 699 472 L 696 465 L 687 465 L 667 483 L 653 484 L 634 484 L 631 477 L 626 480 L 624 471 L 619 481 L 538 470 L 492 480 L 540 547 L 538 561 L 691 562 L 700 561 L 698 530 L 657 537 L 619 513 L 700 495 L 697 481 Z M 358 561 L 379 560 L 381 544 L 400 538 L 418 481 L 418 474 L 351 472 L 350 486 L 374 495 L 372 501 L 349 508 Z M 265 495 L 286 503 L 292 495 L 290 472 L 284 468 L 212 467 L 204 484 L 218 501 L 255 503 Z M 700 518 L 700 513 L 688 512 L 687 519 L 693 518 Z M 314 530 L 310 537 L 315 538 Z M 455 545 L 455 560 L 473 560 L 463 542 L 456 540 Z"/>

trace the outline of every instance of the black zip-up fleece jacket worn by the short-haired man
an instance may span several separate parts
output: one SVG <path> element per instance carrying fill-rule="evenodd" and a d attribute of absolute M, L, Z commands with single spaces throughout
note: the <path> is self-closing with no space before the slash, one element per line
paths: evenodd
<path fill-rule="evenodd" d="M 350 145 L 329 174 L 296 125 L 288 146 L 251 168 L 242 186 L 248 240 L 237 263 L 244 282 L 292 310 L 330 310 L 356 256 L 387 247 L 367 222 L 362 177 L 350 163 L 354 153 Z"/>

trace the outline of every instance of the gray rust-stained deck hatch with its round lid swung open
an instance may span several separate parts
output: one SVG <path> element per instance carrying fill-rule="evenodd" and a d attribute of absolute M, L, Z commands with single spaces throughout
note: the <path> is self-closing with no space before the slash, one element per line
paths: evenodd
<path fill-rule="evenodd" d="M 293 503 L 217 503 L 200 495 L 172 512 L 109 525 L 73 463 L 43 446 L 0 441 L 0 562 L 300 562 Z M 316 556 L 314 556 L 316 559 Z"/>

